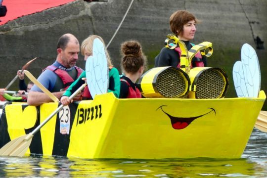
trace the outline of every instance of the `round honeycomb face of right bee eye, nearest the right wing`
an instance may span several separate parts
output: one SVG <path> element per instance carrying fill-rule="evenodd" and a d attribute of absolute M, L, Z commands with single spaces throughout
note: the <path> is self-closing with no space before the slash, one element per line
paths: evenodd
<path fill-rule="evenodd" d="M 225 89 L 225 81 L 225 77 L 219 70 L 207 69 L 203 71 L 197 79 L 196 98 L 219 98 Z"/>

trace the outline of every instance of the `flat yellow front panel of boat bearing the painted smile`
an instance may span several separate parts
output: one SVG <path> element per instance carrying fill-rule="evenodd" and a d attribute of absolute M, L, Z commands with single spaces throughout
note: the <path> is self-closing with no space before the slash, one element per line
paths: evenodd
<path fill-rule="evenodd" d="M 120 100 L 99 157 L 240 157 L 263 101 L 247 98 Z M 180 118 L 201 116 L 210 112 L 209 108 L 213 108 L 216 115 L 210 112 L 186 128 L 176 130 L 170 118 L 157 110 L 162 105 L 166 105 L 163 107 L 166 113 Z M 246 109 L 250 107 L 254 110 Z"/>

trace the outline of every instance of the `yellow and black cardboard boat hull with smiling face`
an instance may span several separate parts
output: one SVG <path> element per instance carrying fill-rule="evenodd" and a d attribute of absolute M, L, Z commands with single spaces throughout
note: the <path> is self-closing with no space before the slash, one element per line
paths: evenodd
<path fill-rule="evenodd" d="M 113 93 L 64 107 L 27 154 L 80 158 L 240 158 L 266 94 L 258 98 L 118 99 Z M 33 131 L 58 103 L 5 105 L 0 147 Z"/>

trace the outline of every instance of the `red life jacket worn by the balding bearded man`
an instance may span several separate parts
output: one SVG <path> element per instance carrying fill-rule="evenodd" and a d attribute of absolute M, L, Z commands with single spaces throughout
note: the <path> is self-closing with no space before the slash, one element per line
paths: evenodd
<path fill-rule="evenodd" d="M 77 78 L 82 74 L 83 70 L 80 67 L 74 66 L 77 70 Z M 54 65 L 47 66 L 45 70 L 48 69 L 54 72 L 61 79 L 64 85 L 64 90 L 68 89 L 69 86 L 74 82 L 73 78 L 68 74 L 67 71 L 59 69 Z"/>

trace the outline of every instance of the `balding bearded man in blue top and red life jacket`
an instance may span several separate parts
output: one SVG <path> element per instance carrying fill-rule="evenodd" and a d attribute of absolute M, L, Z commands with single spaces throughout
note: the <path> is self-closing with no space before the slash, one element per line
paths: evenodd
<path fill-rule="evenodd" d="M 62 35 L 57 43 L 56 61 L 45 68 L 44 72 L 38 77 L 38 81 L 58 99 L 83 72 L 75 64 L 78 60 L 80 44 L 72 34 Z M 81 100 L 82 94 L 79 93 L 74 101 Z M 28 94 L 28 104 L 38 106 L 46 102 L 52 102 L 41 89 L 34 85 Z"/>

